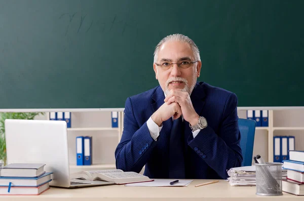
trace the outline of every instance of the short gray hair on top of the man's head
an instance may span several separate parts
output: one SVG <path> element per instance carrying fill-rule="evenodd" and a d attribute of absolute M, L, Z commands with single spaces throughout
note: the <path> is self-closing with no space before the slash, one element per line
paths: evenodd
<path fill-rule="evenodd" d="M 157 62 L 157 57 L 158 57 L 158 52 L 160 50 L 160 47 L 166 43 L 166 42 L 171 42 L 171 41 L 179 41 L 179 42 L 184 42 L 184 43 L 187 43 L 190 45 L 193 53 L 194 53 L 194 57 L 195 57 L 195 60 L 201 60 L 201 57 L 200 57 L 200 50 L 199 48 L 197 47 L 197 45 L 194 43 L 194 41 L 192 41 L 192 39 L 190 39 L 188 36 L 185 36 L 183 34 L 180 34 L 180 33 L 175 33 L 175 34 L 171 34 L 171 35 L 168 35 L 166 37 L 164 37 L 160 43 L 155 47 L 155 51 L 154 51 L 154 63 Z"/>

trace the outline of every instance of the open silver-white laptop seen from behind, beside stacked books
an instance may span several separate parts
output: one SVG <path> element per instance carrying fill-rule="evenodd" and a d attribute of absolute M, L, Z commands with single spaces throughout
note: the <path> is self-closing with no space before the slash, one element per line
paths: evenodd
<path fill-rule="evenodd" d="M 5 131 L 8 164 L 46 164 L 45 171 L 53 172 L 51 186 L 75 188 L 112 184 L 70 179 L 64 121 L 6 119 Z"/>

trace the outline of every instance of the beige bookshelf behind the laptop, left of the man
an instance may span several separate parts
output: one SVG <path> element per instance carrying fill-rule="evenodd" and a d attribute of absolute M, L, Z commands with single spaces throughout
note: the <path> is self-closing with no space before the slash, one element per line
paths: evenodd
<path fill-rule="evenodd" d="M 71 112 L 71 128 L 67 128 L 70 173 L 116 169 L 114 152 L 121 139 L 122 115 L 123 112 L 118 111 L 118 128 L 112 128 L 111 111 Z M 46 112 L 45 117 L 41 119 L 43 118 L 49 119 L 49 112 Z M 91 166 L 76 165 L 77 136 L 92 136 Z"/>

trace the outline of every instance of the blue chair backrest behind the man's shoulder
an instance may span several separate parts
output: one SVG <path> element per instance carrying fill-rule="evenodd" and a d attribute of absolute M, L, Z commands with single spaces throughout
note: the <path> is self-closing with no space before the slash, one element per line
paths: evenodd
<path fill-rule="evenodd" d="M 252 164 L 255 125 L 255 120 L 239 118 L 240 144 L 243 154 L 242 166 L 251 166 Z"/>

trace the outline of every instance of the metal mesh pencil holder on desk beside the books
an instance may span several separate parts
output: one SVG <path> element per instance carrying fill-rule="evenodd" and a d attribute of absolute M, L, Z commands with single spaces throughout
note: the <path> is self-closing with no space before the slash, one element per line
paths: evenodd
<path fill-rule="evenodd" d="M 255 164 L 256 194 L 283 195 L 282 193 L 282 164 Z"/>

